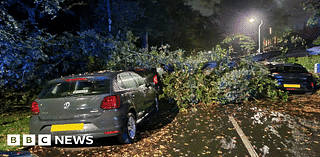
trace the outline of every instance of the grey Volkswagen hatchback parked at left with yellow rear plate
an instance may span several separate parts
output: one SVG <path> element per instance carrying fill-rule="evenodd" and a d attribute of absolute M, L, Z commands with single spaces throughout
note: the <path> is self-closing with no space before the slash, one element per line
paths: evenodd
<path fill-rule="evenodd" d="M 136 123 L 157 108 L 157 92 L 135 72 L 72 75 L 49 81 L 32 103 L 30 133 L 132 143 Z"/>

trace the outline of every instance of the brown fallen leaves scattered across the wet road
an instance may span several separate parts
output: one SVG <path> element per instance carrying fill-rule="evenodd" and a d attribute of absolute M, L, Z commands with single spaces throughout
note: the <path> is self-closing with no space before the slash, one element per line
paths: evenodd
<path fill-rule="evenodd" d="M 313 119 L 314 123 L 319 123 L 320 112 L 318 99 L 319 94 L 311 96 L 290 96 L 288 102 L 283 103 L 275 100 L 261 100 L 259 102 L 250 101 L 242 104 L 229 104 L 225 106 L 212 105 L 205 108 L 201 103 L 195 106 L 197 110 L 186 110 L 179 112 L 174 105 L 162 102 L 160 113 L 152 115 L 139 125 L 138 137 L 133 144 L 118 144 L 113 138 L 103 139 L 99 141 L 101 144 L 94 147 L 40 147 L 35 146 L 29 149 L 32 153 L 39 156 L 225 156 L 227 154 L 237 154 L 238 156 L 249 155 L 239 136 L 234 130 L 232 124 L 228 122 L 227 115 L 241 115 L 244 119 L 249 119 L 247 111 L 256 109 L 256 111 L 266 111 L 263 116 L 270 116 L 271 113 L 284 113 L 292 117 L 298 117 L 297 123 L 301 124 L 296 130 L 284 129 L 281 134 L 283 138 L 291 138 L 297 136 L 299 131 L 305 136 L 297 136 L 301 138 L 298 141 L 304 147 L 304 151 L 316 153 L 320 141 L 319 125 L 308 125 L 304 121 Z M 275 131 L 277 126 L 285 122 L 284 117 L 278 115 L 279 119 L 273 121 L 273 125 L 266 127 L 265 135 L 262 139 L 266 141 L 273 137 L 274 134 L 267 134 Z M 236 118 L 240 126 L 246 129 L 252 129 L 252 124 L 245 124 L 241 117 Z M 263 122 L 263 121 L 262 121 Z M 292 124 L 290 124 L 292 125 Z M 253 132 L 246 134 L 252 144 L 257 140 L 255 136 L 251 136 Z M 275 140 L 276 136 L 271 138 Z M 302 139 L 309 137 L 309 139 Z M 275 142 L 275 141 L 274 141 Z M 285 144 L 285 143 L 283 143 Z M 307 144 L 307 145 L 306 145 Z M 258 146 L 258 145 L 257 145 Z M 264 152 L 272 152 L 272 147 L 263 148 L 255 147 L 255 149 L 263 154 Z M 282 147 L 278 145 L 274 149 L 276 151 L 289 151 L 291 145 Z M 296 145 L 294 145 L 296 146 Z M 296 146 L 298 147 L 298 145 Z M 299 148 L 299 147 L 298 147 Z M 270 150 L 269 150 L 270 149 Z M 275 151 L 273 150 L 273 151 Z M 300 149 L 299 149 L 300 150 Z M 303 151 L 303 150 L 300 150 Z"/>

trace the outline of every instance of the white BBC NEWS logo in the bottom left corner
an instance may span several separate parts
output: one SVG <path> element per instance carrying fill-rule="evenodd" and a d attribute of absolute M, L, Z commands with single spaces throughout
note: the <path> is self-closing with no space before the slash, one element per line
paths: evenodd
<path fill-rule="evenodd" d="M 38 145 L 39 146 L 51 146 L 52 142 L 55 145 L 58 144 L 93 144 L 93 136 L 53 136 L 51 140 L 50 134 L 39 134 L 38 135 Z M 7 145 L 8 146 L 20 146 L 21 139 L 19 134 L 7 135 Z M 36 145 L 36 135 L 28 134 L 22 135 L 22 145 L 23 146 L 35 146 Z"/>

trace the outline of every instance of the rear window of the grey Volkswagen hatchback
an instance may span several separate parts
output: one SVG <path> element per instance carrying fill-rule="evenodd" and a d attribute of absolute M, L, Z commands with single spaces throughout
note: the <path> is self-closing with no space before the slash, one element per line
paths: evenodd
<path fill-rule="evenodd" d="M 77 80 L 49 83 L 38 98 L 60 98 L 77 95 L 95 95 L 110 92 L 110 80 Z"/>

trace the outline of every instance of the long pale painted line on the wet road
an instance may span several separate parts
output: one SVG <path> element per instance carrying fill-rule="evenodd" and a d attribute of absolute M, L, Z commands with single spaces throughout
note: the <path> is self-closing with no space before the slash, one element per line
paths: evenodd
<path fill-rule="evenodd" d="M 259 157 L 257 152 L 253 149 L 253 147 L 252 147 L 251 143 L 249 142 L 247 136 L 243 133 L 243 131 L 241 130 L 240 126 L 238 125 L 236 120 L 233 118 L 233 116 L 229 116 L 229 120 L 232 122 L 233 126 L 236 128 L 236 130 L 237 130 L 242 142 L 246 146 L 246 148 L 247 148 L 249 154 L 251 155 L 251 157 Z"/>

